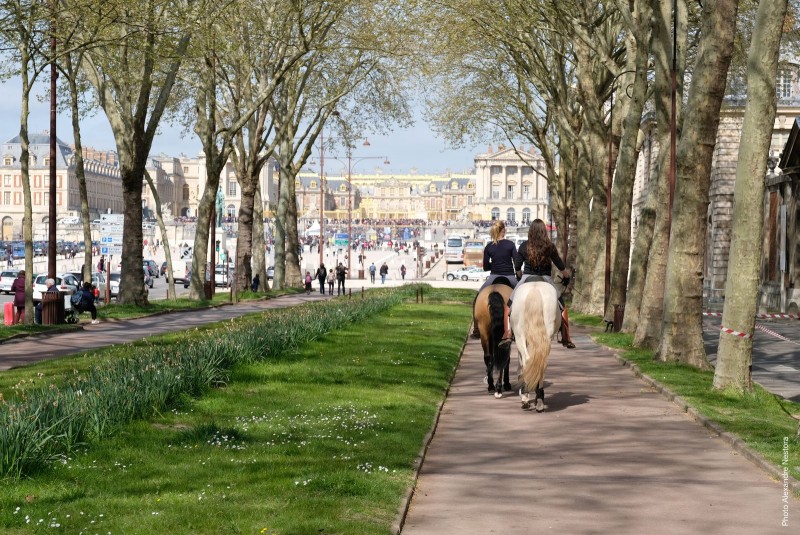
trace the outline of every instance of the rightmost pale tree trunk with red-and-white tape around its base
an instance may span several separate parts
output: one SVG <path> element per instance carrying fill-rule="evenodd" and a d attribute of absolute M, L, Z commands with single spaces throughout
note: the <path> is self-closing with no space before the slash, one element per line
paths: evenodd
<path fill-rule="evenodd" d="M 764 172 L 775 121 L 775 81 L 787 0 L 763 0 L 747 59 L 747 106 L 736 164 L 730 263 L 722 325 L 743 333 L 755 329 L 764 222 Z M 753 388 L 753 339 L 719 335 L 714 388 Z"/>

